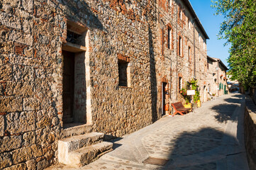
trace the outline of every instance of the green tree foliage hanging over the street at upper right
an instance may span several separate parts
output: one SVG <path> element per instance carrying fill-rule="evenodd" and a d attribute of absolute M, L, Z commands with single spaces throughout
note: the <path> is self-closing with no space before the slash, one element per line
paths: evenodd
<path fill-rule="evenodd" d="M 223 15 L 218 38 L 230 43 L 228 63 L 232 79 L 244 86 L 256 85 L 256 1 L 213 1 L 216 15 Z"/>

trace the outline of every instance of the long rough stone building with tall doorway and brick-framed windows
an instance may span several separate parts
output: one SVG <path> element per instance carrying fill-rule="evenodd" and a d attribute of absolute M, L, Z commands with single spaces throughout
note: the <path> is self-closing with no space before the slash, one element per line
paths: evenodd
<path fill-rule="evenodd" d="M 188 0 L 0 7 L 0 169 L 44 169 L 83 134 L 143 128 L 172 113 L 191 79 L 204 94 L 208 35 Z"/>

